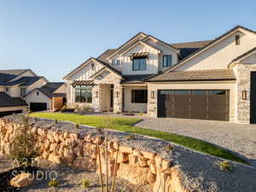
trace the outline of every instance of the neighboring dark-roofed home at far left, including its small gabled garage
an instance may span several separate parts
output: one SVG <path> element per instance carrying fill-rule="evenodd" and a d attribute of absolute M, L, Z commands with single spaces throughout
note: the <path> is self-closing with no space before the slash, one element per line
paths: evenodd
<path fill-rule="evenodd" d="M 64 83 L 50 83 L 30 69 L 0 70 L 0 117 L 61 108 L 65 97 Z"/>

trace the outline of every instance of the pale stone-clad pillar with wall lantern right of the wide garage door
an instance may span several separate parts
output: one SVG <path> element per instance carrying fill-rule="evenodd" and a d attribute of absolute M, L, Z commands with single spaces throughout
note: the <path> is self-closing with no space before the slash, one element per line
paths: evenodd
<path fill-rule="evenodd" d="M 250 123 L 251 72 L 256 72 L 256 64 L 236 64 L 236 122 Z M 247 99 L 242 99 L 242 90 L 247 91 Z"/>

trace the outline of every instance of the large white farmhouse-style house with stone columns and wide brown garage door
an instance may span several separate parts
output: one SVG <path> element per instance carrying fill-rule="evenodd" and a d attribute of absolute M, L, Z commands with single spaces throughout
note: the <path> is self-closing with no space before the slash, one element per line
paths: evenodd
<path fill-rule="evenodd" d="M 69 107 L 255 123 L 256 32 L 236 26 L 214 40 L 182 44 L 140 32 L 64 79 Z"/>

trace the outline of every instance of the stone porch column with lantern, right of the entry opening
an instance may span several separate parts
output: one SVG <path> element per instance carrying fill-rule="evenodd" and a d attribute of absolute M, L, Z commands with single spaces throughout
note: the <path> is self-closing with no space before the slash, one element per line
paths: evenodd
<path fill-rule="evenodd" d="M 116 82 L 113 84 L 113 113 L 122 113 L 123 111 L 123 90 L 122 84 Z"/>

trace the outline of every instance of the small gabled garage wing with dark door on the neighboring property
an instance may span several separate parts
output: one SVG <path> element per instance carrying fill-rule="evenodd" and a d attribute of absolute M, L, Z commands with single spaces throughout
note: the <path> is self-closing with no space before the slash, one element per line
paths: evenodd
<path fill-rule="evenodd" d="M 61 109 L 66 102 L 66 85 L 56 82 L 47 83 L 29 92 L 24 99 L 29 103 L 31 111 Z"/>

